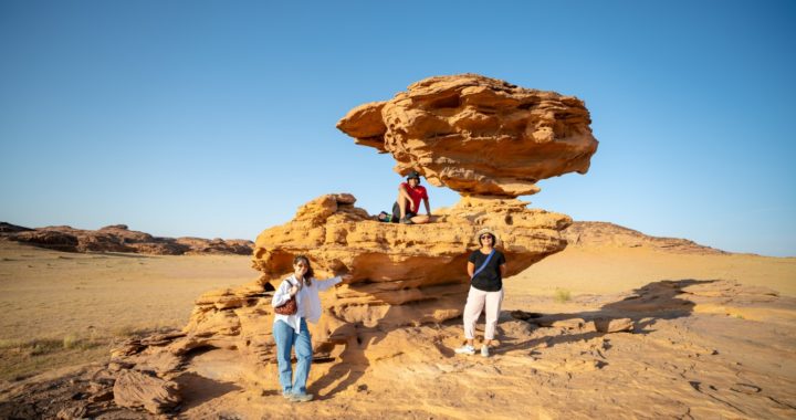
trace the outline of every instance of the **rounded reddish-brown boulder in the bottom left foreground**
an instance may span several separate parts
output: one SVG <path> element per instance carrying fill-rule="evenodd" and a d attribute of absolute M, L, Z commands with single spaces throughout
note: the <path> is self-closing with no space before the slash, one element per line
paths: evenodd
<path fill-rule="evenodd" d="M 122 370 L 114 384 L 114 401 L 119 407 L 144 408 L 158 414 L 171 410 L 181 398 L 177 382 L 136 370 Z"/>

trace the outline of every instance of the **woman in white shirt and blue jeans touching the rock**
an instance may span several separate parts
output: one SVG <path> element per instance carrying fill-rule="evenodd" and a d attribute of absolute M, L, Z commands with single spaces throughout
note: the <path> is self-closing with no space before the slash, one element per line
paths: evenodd
<path fill-rule="evenodd" d="M 296 300 L 296 313 L 293 315 L 274 314 L 273 325 L 282 395 L 296 402 L 310 401 L 313 398 L 312 393 L 306 392 L 306 380 L 312 363 L 312 337 L 306 322 L 315 324 L 321 318 L 318 292 L 352 277 L 350 274 L 346 274 L 318 281 L 313 275 L 310 260 L 304 255 L 297 255 L 293 259 L 293 274 L 282 281 L 271 300 L 273 307 L 284 305 L 293 296 Z M 293 382 L 291 366 L 291 349 L 294 346 L 296 354 L 295 382 Z"/>

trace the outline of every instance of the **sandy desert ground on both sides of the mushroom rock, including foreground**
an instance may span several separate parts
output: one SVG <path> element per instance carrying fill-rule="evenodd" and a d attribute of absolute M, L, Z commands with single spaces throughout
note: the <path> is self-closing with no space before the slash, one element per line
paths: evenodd
<path fill-rule="evenodd" d="M 41 405 L 31 402 L 40 384 L 78 386 L 114 343 L 180 328 L 202 292 L 256 277 L 240 255 L 0 241 L 0 417 Z M 396 329 L 379 344 L 392 351 L 378 358 L 348 351 L 315 364 L 317 400 L 296 405 L 279 395 L 274 365 L 240 371 L 233 353 L 211 351 L 196 357 L 205 359 L 182 384 L 178 416 L 796 418 L 796 259 L 570 246 L 507 279 L 505 291 L 490 358 L 453 354 L 459 319 Z M 595 317 L 629 328 L 595 329 L 586 322 Z"/>

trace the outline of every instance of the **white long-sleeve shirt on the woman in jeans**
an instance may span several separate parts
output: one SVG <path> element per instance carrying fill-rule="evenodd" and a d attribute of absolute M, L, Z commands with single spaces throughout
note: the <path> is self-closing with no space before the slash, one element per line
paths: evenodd
<path fill-rule="evenodd" d="M 305 283 L 298 293 L 296 293 L 296 313 L 293 315 L 274 314 L 274 323 L 283 321 L 293 327 L 296 334 L 301 332 L 302 317 L 313 324 L 317 323 L 317 321 L 321 319 L 321 296 L 318 296 L 318 292 L 328 290 L 342 281 L 343 279 L 341 276 L 322 281 L 312 279 L 311 285 Z M 291 287 L 296 285 L 298 285 L 298 281 L 296 280 L 295 274 L 292 274 L 290 277 L 283 280 L 282 284 L 280 284 L 279 288 L 276 288 L 276 292 L 271 298 L 271 306 L 282 306 L 285 302 L 287 302 L 287 300 L 290 300 Z"/>

